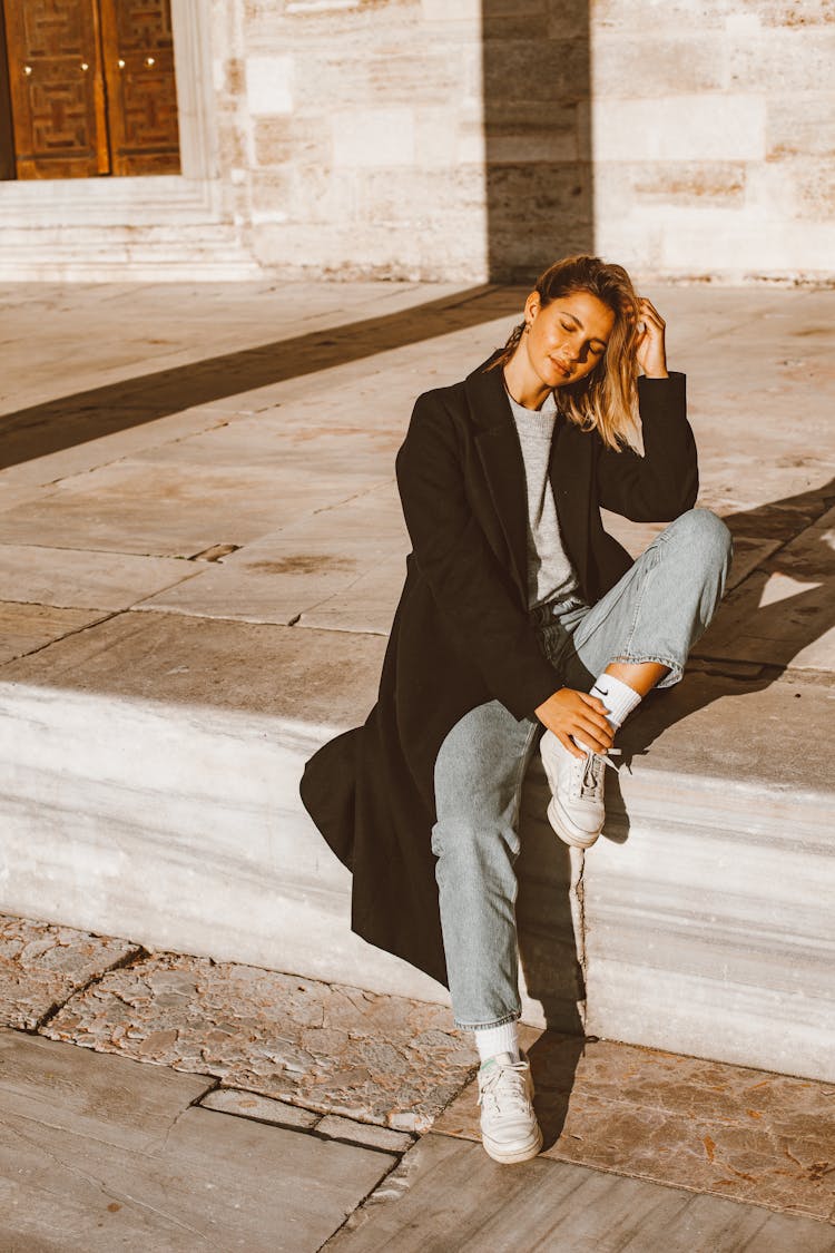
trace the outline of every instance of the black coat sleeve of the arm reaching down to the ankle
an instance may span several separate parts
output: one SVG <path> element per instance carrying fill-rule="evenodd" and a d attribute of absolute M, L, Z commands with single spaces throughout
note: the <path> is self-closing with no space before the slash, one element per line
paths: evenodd
<path fill-rule="evenodd" d="M 532 717 L 560 684 L 469 507 L 454 421 L 437 395 L 418 398 L 396 464 L 414 560 L 457 648 L 516 718 Z"/>

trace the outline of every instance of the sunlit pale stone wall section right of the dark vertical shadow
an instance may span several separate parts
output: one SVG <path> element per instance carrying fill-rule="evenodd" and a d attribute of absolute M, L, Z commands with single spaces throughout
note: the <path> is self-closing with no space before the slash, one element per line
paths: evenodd
<path fill-rule="evenodd" d="M 835 4 L 597 0 L 596 247 L 648 273 L 835 272 Z"/>

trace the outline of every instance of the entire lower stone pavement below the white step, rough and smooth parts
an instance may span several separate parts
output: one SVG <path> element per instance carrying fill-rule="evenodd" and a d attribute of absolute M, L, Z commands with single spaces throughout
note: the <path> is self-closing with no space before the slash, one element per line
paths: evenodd
<path fill-rule="evenodd" d="M 0 918 L 0 1244 L 835 1248 L 831 1085 L 523 1042 L 546 1143 L 502 1168 L 437 1006 Z"/>

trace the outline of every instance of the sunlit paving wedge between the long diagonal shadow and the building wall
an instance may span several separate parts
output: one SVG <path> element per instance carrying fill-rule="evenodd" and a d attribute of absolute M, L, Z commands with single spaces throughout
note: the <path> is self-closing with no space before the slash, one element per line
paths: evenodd
<path fill-rule="evenodd" d="M 454 299 L 459 287 L 255 281 L 30 283 L 24 291 L 5 283 L 0 412 L 64 395 L 69 352 L 74 390 L 81 390 L 153 373 L 172 360 L 198 363 L 213 352 L 402 313 L 424 303 L 427 291 L 431 298 Z"/>

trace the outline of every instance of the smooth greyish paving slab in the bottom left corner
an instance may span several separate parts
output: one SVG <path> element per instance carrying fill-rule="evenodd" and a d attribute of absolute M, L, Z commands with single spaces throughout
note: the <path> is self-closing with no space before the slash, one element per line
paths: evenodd
<path fill-rule="evenodd" d="M 0 1247 L 313 1253 L 397 1160 L 214 1110 L 210 1083 L 0 1032 Z"/>

